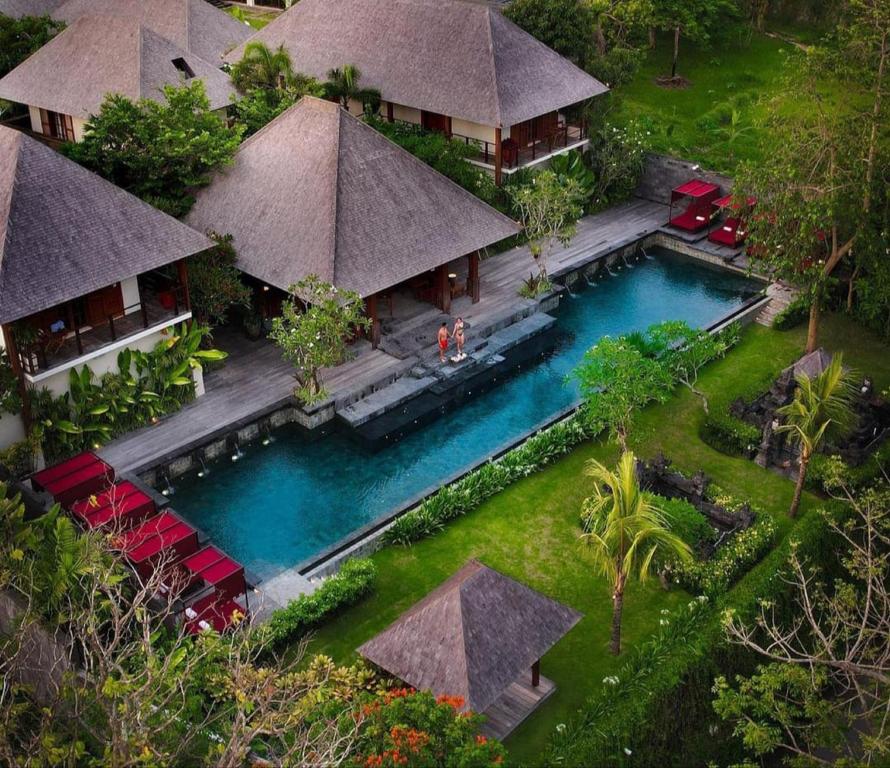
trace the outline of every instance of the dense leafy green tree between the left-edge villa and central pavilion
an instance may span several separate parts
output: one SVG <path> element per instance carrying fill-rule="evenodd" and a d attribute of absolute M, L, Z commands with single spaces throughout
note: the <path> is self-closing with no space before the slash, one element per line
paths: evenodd
<path fill-rule="evenodd" d="M 105 98 L 87 123 L 84 140 L 63 151 L 174 216 L 194 204 L 195 189 L 232 162 L 243 129 L 228 127 L 210 109 L 201 80 L 164 87 L 164 101 Z"/>

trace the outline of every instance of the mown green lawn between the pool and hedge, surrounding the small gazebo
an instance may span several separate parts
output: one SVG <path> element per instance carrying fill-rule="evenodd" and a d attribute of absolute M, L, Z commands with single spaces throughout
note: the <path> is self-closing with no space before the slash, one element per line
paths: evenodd
<path fill-rule="evenodd" d="M 741 344 L 702 376 L 700 388 L 711 397 L 732 391 L 750 376 L 777 372 L 802 350 L 805 329 L 788 332 L 752 326 Z M 823 344 L 847 350 L 846 358 L 868 371 L 877 386 L 890 384 L 890 355 L 874 336 L 845 317 L 824 321 Z M 632 442 L 651 456 L 662 449 L 687 471 L 703 468 L 726 490 L 749 498 L 790 528 L 784 512 L 792 485 L 753 462 L 718 453 L 697 437 L 703 417 L 701 403 L 687 390 L 665 405 L 647 409 Z M 620 660 L 607 650 L 611 605 L 605 583 L 590 570 L 578 542 L 579 505 L 588 493 L 583 479 L 590 458 L 613 461 L 616 449 L 602 442 L 580 446 L 563 460 L 511 486 L 477 511 L 457 520 L 437 536 L 413 547 L 391 547 L 374 555 L 379 577 L 374 594 L 322 627 L 310 652 L 336 660 L 354 659 L 354 649 L 393 621 L 433 587 L 476 557 L 529 586 L 576 608 L 584 619 L 544 658 L 542 674 L 552 678 L 556 693 L 507 741 L 514 762 L 534 765 L 549 734 L 564 722 L 614 672 Z M 815 503 L 807 497 L 804 504 Z M 647 637 L 658 625 L 660 611 L 688 599 L 679 590 L 664 592 L 657 581 L 631 585 L 624 613 L 625 649 Z"/>

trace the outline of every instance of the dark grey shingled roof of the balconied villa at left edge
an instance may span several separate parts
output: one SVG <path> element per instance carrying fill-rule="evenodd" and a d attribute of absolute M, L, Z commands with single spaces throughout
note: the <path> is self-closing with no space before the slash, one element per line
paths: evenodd
<path fill-rule="evenodd" d="M 0 323 L 211 245 L 35 139 L 0 126 Z"/>

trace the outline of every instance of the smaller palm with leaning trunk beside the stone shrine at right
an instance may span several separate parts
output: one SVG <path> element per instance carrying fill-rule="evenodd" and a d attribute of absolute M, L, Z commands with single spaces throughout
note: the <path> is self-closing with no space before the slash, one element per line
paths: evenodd
<path fill-rule="evenodd" d="M 789 517 L 797 515 L 810 459 L 826 433 L 843 434 L 852 426 L 855 396 L 853 374 L 844 370 L 841 354 L 835 355 L 818 376 L 810 378 L 800 373 L 795 380 L 797 390 L 794 400 L 776 412 L 785 422 L 776 432 L 790 433 L 792 442 L 800 449 L 800 469 L 791 509 L 788 510 Z"/>

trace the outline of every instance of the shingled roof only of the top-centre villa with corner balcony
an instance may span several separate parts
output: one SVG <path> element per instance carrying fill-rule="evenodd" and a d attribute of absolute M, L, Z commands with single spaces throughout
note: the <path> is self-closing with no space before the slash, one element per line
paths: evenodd
<path fill-rule="evenodd" d="M 324 79 L 355 64 L 384 99 L 483 125 L 514 125 L 607 90 L 487 3 L 300 0 L 251 40 L 283 44 L 297 71 Z"/>

